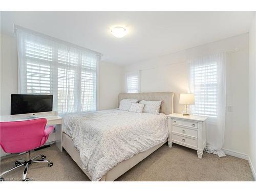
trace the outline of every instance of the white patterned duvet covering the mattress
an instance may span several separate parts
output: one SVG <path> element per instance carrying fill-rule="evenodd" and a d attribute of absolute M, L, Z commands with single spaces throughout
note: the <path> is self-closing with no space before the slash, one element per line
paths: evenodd
<path fill-rule="evenodd" d="M 135 154 L 149 150 L 168 137 L 167 117 L 149 113 L 105 110 L 67 115 L 63 131 L 79 152 L 92 181 Z"/>

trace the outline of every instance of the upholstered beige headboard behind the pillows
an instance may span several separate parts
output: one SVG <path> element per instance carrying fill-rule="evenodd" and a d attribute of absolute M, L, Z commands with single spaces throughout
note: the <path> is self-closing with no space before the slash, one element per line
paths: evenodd
<path fill-rule="evenodd" d="M 139 99 L 160 101 L 162 100 L 160 113 L 165 115 L 174 112 L 174 93 L 173 92 L 152 92 L 152 93 L 119 93 L 118 106 L 122 99 Z"/>

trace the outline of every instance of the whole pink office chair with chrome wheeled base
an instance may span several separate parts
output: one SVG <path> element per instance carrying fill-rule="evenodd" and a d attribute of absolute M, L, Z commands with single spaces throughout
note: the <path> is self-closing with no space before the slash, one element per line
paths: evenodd
<path fill-rule="evenodd" d="M 45 160 L 46 156 L 38 155 L 30 159 L 30 151 L 44 145 L 54 130 L 53 126 L 46 127 L 47 120 L 33 119 L 25 121 L 0 122 L 0 145 L 6 153 L 23 153 L 26 152 L 26 160 L 15 161 L 15 167 L 3 172 L 0 175 L 0 181 L 3 181 L 3 175 L 12 170 L 25 166 L 23 172 L 23 181 L 28 181 L 28 167 L 31 163 L 48 163 L 48 166 L 53 166 L 53 163 Z M 40 158 L 40 160 L 36 160 Z"/>

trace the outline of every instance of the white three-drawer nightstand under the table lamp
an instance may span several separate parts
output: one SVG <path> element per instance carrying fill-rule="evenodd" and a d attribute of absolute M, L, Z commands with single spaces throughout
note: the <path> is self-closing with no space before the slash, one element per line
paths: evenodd
<path fill-rule="evenodd" d="M 197 150 L 198 158 L 202 158 L 206 147 L 206 126 L 207 117 L 204 116 L 183 116 L 173 113 L 168 117 L 168 146 L 172 147 L 177 143 Z"/>

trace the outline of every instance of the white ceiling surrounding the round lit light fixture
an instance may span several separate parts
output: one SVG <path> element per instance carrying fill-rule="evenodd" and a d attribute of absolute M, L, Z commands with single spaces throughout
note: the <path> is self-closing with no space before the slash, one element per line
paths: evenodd
<path fill-rule="evenodd" d="M 1 12 L 1 32 L 13 24 L 100 52 L 130 65 L 249 31 L 253 12 Z M 112 26 L 127 27 L 123 38 Z"/>

